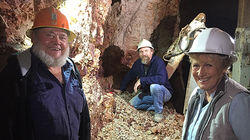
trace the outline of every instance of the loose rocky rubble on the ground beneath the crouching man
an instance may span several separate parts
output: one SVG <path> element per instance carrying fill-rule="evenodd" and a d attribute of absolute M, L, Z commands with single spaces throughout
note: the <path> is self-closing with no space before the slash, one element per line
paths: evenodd
<path fill-rule="evenodd" d="M 136 110 L 129 105 L 132 94 L 114 95 L 115 108 L 111 122 L 104 124 L 98 140 L 178 140 L 184 116 L 175 112 L 171 104 L 164 106 L 164 120 L 153 121 L 152 111 Z"/>

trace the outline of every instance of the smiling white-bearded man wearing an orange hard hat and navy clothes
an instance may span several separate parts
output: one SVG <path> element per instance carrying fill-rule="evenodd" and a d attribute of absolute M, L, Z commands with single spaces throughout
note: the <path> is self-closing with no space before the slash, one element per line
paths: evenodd
<path fill-rule="evenodd" d="M 69 58 L 75 34 L 58 9 L 42 9 L 27 31 L 33 46 L 0 73 L 2 140 L 90 139 L 79 71 Z"/>

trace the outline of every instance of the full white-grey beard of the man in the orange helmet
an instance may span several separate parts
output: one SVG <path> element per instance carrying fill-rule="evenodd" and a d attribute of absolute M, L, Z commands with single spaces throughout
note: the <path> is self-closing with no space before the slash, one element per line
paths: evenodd
<path fill-rule="evenodd" d="M 39 44 L 32 47 L 32 52 L 48 67 L 62 67 L 66 64 L 66 58 L 69 57 L 69 47 L 67 47 L 65 53 L 57 59 L 45 53 Z"/>

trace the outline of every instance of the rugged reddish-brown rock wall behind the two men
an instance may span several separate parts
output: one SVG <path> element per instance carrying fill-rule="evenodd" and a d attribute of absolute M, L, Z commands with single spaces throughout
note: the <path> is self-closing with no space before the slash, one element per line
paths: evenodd
<path fill-rule="evenodd" d="M 68 7 L 72 5 L 73 11 Z M 103 125 L 113 121 L 113 89 L 119 88 L 123 75 L 138 58 L 139 41 L 150 39 L 159 52 L 170 46 L 179 28 L 178 5 L 179 0 L 2 0 L 0 70 L 11 53 L 31 46 L 25 32 L 32 27 L 35 12 L 48 6 L 60 7 L 77 34 L 70 56 L 83 77 L 95 139 Z M 163 36 L 168 42 L 160 45 Z M 117 60 L 115 65 L 112 60 Z"/>

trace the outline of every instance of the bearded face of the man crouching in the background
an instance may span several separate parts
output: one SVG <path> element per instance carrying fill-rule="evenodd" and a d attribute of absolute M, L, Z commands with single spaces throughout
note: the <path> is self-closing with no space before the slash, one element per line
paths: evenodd
<path fill-rule="evenodd" d="M 139 57 L 141 58 L 142 64 L 149 64 L 154 50 L 149 47 L 143 47 L 139 49 Z"/>

